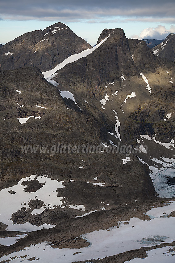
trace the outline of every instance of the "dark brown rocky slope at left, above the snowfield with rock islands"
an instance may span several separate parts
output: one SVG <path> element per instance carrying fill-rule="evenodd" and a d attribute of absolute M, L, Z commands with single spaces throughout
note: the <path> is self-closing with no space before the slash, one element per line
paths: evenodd
<path fill-rule="evenodd" d="M 107 200 L 113 200 L 117 193 L 118 201 L 113 200 L 111 205 L 115 205 L 115 202 L 123 202 L 125 198 L 134 199 L 135 195 L 140 196 L 141 199 L 154 196 L 154 189 L 149 179 L 148 170 L 145 170 L 145 167 L 142 166 L 135 157 L 133 158 L 135 158 L 135 165 L 138 167 L 137 171 L 135 169 L 132 170 L 129 165 L 124 167 L 122 162 L 123 155 L 114 153 L 107 156 L 101 153 L 90 155 L 85 153 L 65 153 L 51 156 L 50 152 L 47 153 L 47 151 L 45 153 L 40 153 L 39 151 L 36 153 L 30 151 L 22 153 L 21 144 L 48 145 L 48 149 L 50 149 L 52 145 L 57 145 L 58 142 L 71 143 L 72 145 L 82 145 L 83 143 L 87 144 L 87 142 L 89 142 L 90 145 L 99 145 L 101 141 L 106 140 L 106 134 L 112 129 L 112 123 L 109 117 L 103 116 L 101 110 L 93 105 L 93 103 L 89 106 L 83 100 L 78 100 L 82 111 L 76 108 L 74 110 L 66 109 L 67 106 L 69 107 L 69 101 L 67 100 L 66 105 L 60 96 L 59 90 L 49 84 L 37 68 L 26 67 L 21 70 L 0 71 L 0 73 L 2 81 L 1 105 L 4 106 L 4 108 L 2 107 L 3 110 L 0 111 L 3 127 L 1 129 L 2 188 L 6 186 L 7 182 L 9 186 L 14 185 L 15 180 L 19 181 L 20 178 L 32 173 L 38 175 L 49 174 L 49 176 L 60 181 L 76 179 L 79 183 L 77 186 L 75 184 L 75 190 L 78 188 L 81 189 L 82 183 L 85 183 L 87 189 L 89 189 L 86 181 L 94 182 L 93 178 L 96 175 L 101 175 L 102 182 L 105 183 L 106 188 L 96 187 L 96 195 L 97 190 L 99 191 L 99 201 L 97 205 L 100 205 L 100 202 L 102 202 L 102 193 L 104 193 Z M 15 90 L 19 90 L 21 93 Z M 8 102 L 9 99 L 10 102 Z M 10 109 L 7 109 L 5 107 L 6 105 L 10 106 Z M 19 105 L 25 106 L 19 107 Z M 19 123 L 17 118 L 26 118 L 32 113 L 37 112 L 35 105 L 46 108 L 41 108 L 40 116 L 42 116 L 42 118 L 30 118 L 27 120 L 27 123 Z M 42 114 L 43 112 L 44 114 Z M 9 122 L 11 124 L 9 124 Z M 104 125 L 104 123 L 106 124 Z M 14 147 L 14 145 L 16 146 Z M 87 162 L 87 169 L 78 169 L 78 163 L 81 163 L 84 159 Z M 117 170 L 115 164 L 117 164 Z M 100 168 L 100 166 L 102 166 L 102 168 Z M 124 169 L 123 179 L 121 179 L 121 169 Z M 105 173 L 103 170 L 105 170 Z M 14 173 L 15 177 L 10 176 Z M 133 175 L 135 178 L 134 183 L 129 183 L 127 174 L 130 174 L 130 178 Z M 139 178 L 141 174 L 143 178 L 145 178 L 144 181 L 147 181 L 149 190 L 145 189 L 145 185 L 140 184 Z M 43 186 L 37 179 L 25 181 L 23 185 L 27 185 L 24 191 L 36 192 L 36 195 L 37 190 Z M 71 193 L 69 186 L 69 184 L 66 186 L 68 195 Z M 114 188 L 107 188 L 107 186 L 113 186 Z M 123 187 L 127 189 L 127 195 L 123 195 Z M 91 188 L 87 190 L 86 194 L 84 193 L 84 196 L 82 194 L 83 199 L 88 200 L 90 191 L 95 190 L 94 186 Z M 72 204 L 77 201 L 74 192 L 75 191 L 72 191 L 70 195 Z M 64 194 L 61 196 L 64 197 Z M 94 208 L 90 203 L 89 205 L 87 203 L 87 207 L 88 209 Z M 23 213 L 26 212 L 23 211 Z"/>

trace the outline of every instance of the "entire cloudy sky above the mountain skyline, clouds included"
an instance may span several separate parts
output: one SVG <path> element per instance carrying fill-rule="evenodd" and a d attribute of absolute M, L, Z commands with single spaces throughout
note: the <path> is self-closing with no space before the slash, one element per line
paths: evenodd
<path fill-rule="evenodd" d="M 104 28 L 128 38 L 164 39 L 175 33 L 175 0 L 0 0 L 0 43 L 56 22 L 91 45 Z"/>

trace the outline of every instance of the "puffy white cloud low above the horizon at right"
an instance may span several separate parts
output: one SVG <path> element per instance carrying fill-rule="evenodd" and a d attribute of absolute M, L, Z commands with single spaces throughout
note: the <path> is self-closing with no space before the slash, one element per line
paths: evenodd
<path fill-rule="evenodd" d="M 145 28 L 141 33 L 139 39 L 165 39 L 170 33 L 175 33 L 175 27 L 171 25 L 169 29 L 165 26 L 158 25 L 156 28 Z"/>

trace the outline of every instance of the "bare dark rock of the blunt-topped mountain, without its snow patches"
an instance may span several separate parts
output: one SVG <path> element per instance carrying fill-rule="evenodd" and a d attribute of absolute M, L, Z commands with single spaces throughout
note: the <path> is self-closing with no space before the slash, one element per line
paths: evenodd
<path fill-rule="evenodd" d="M 62 90 L 77 93 L 78 97 L 79 94 L 81 97 L 90 97 L 113 125 L 115 119 L 111 111 L 115 109 L 121 120 L 119 132 L 123 142 L 134 145 L 135 138 L 140 134 L 153 136 L 155 132 L 157 136 L 160 135 L 158 139 L 171 141 L 174 138 L 174 120 L 166 120 L 166 114 L 175 111 L 174 63 L 156 58 L 145 41 L 127 39 L 122 29 L 105 29 L 97 44 L 109 35 L 97 50 L 59 70 L 53 80 L 59 80 L 59 88 Z M 142 80 L 140 73 L 145 74 L 151 92 L 146 90 L 147 83 Z M 121 79 L 121 75 L 125 80 Z M 132 92 L 135 98 L 126 100 Z M 106 93 L 110 103 L 106 101 L 105 111 L 100 100 Z M 162 133 L 160 127 L 164 127 Z"/>

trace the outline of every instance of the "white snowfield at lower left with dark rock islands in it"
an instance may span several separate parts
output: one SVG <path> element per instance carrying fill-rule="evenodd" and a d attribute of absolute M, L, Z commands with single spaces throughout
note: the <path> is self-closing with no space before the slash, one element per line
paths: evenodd
<path fill-rule="evenodd" d="M 39 183 L 44 184 L 42 188 L 36 192 L 25 192 L 24 188 L 26 185 L 22 185 L 24 181 L 32 181 L 37 179 Z M 55 206 L 60 206 L 65 208 L 65 206 L 73 209 L 81 209 L 85 211 L 84 205 L 64 205 L 62 201 L 63 197 L 58 197 L 56 190 L 58 188 L 64 188 L 65 186 L 62 182 L 57 180 L 52 180 L 49 177 L 31 175 L 26 178 L 22 178 L 17 185 L 4 188 L 0 191 L 0 222 L 3 222 L 8 227 L 8 231 L 36 231 L 43 228 L 51 228 L 55 225 L 43 224 L 41 226 L 31 225 L 29 222 L 24 224 L 13 224 L 13 221 L 10 219 L 12 214 L 15 213 L 18 209 L 22 207 L 25 209 L 30 208 L 28 203 L 30 200 L 42 200 L 44 205 L 40 209 L 34 209 L 31 214 L 39 214 L 44 211 L 44 209 L 54 209 Z M 9 191 L 14 191 L 14 194 L 9 193 Z M 6 202 L 4 202 L 6 200 Z M 8 207 L 8 209 L 7 209 Z"/>

